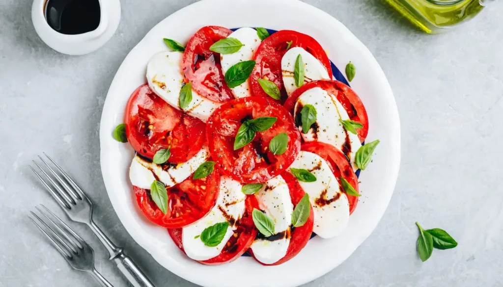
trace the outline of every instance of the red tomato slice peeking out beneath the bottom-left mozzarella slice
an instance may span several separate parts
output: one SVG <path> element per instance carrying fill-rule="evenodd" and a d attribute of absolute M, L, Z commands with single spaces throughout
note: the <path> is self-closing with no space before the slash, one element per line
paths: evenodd
<path fill-rule="evenodd" d="M 246 197 L 245 207 L 246 209 L 244 215 L 239 221 L 236 230 L 234 230 L 234 235 L 227 241 L 227 244 L 223 248 L 222 252 L 220 252 L 220 254 L 216 257 L 198 262 L 206 265 L 220 265 L 236 260 L 246 250 L 248 250 L 251 243 L 255 240 L 255 236 L 257 236 L 257 229 L 255 228 L 255 224 L 251 218 L 251 212 L 253 209 L 259 208 L 259 203 L 257 202 L 255 196 Z M 175 244 L 184 251 L 182 243 L 182 229 L 168 229 L 167 231 L 170 233 L 170 236 Z"/>

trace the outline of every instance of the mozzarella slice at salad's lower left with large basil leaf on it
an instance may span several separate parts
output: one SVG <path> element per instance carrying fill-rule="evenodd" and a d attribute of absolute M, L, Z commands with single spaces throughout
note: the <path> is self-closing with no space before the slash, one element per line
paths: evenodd
<path fill-rule="evenodd" d="M 241 183 L 222 176 L 220 179 L 220 192 L 215 207 L 202 219 L 184 227 L 182 230 L 182 244 L 187 256 L 194 260 L 208 260 L 218 256 L 229 238 L 236 229 L 235 223 L 244 213 L 244 201 L 246 196 L 241 192 Z M 208 227 L 220 223 L 229 222 L 227 232 L 223 240 L 214 247 L 204 245 L 200 237 L 195 238 Z"/>

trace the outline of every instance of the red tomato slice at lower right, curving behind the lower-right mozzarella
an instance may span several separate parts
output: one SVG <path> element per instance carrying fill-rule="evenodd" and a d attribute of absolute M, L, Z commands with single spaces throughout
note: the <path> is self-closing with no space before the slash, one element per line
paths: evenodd
<path fill-rule="evenodd" d="M 328 163 L 328 166 L 332 170 L 333 175 L 336 176 L 339 184 L 341 184 L 340 177 L 343 176 L 348 180 L 351 186 L 356 189 L 356 192 L 360 193 L 358 188 L 358 177 L 344 153 L 338 148 L 322 142 L 308 142 L 302 144 L 300 149 L 321 156 Z M 349 214 L 351 215 L 358 204 L 358 197 L 348 196 L 348 201 Z"/>

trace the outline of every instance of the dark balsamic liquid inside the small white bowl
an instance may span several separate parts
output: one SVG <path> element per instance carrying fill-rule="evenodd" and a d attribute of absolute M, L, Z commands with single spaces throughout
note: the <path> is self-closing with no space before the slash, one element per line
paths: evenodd
<path fill-rule="evenodd" d="M 45 19 L 61 34 L 76 35 L 96 30 L 100 25 L 99 0 L 47 0 Z"/>

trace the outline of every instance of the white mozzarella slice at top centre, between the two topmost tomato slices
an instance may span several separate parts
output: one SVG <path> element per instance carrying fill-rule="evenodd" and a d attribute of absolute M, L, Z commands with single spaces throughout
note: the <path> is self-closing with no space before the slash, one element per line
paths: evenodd
<path fill-rule="evenodd" d="M 239 51 L 235 53 L 220 54 L 220 64 L 222 65 L 223 74 L 225 74 L 227 70 L 230 69 L 230 67 L 232 67 L 233 65 L 242 61 L 251 60 L 253 58 L 253 55 L 255 54 L 255 51 L 257 50 L 257 47 L 259 47 L 260 43 L 262 42 L 257 35 L 257 30 L 247 27 L 237 29 L 236 31 L 232 32 L 227 38 L 235 38 L 239 40 L 241 44 L 244 44 L 244 46 L 242 46 Z M 234 88 L 231 88 L 231 90 L 236 99 L 249 97 L 251 95 L 248 80 Z"/>

